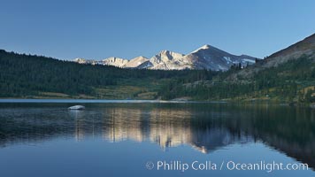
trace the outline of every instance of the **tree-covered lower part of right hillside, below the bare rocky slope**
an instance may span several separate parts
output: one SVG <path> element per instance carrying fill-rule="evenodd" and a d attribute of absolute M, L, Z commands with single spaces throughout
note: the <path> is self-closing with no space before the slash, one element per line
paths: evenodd
<path fill-rule="evenodd" d="M 173 82 L 160 94 L 164 99 L 192 96 L 198 100 L 273 100 L 286 103 L 315 102 L 314 58 L 302 56 L 277 67 L 265 68 L 251 79 L 239 75 L 237 81 L 227 80 L 237 73 L 234 68 L 220 73 L 211 81 L 187 84 Z"/>

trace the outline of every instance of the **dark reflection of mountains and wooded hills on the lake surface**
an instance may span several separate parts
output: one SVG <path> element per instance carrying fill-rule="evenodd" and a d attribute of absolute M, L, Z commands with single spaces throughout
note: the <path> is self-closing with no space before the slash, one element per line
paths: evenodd
<path fill-rule="evenodd" d="M 314 111 L 233 104 L 1 104 L 0 147 L 57 137 L 102 137 L 109 142 L 157 143 L 162 149 L 190 145 L 202 153 L 229 144 L 264 142 L 315 167 Z"/>

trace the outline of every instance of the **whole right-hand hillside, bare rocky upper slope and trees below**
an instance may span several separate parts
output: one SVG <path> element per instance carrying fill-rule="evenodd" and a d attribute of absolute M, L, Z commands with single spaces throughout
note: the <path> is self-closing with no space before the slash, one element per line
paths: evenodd
<path fill-rule="evenodd" d="M 165 91 L 167 90 L 167 91 Z M 200 100 L 315 102 L 315 34 L 246 68 L 234 65 L 211 81 L 173 82 L 164 99 L 191 96 Z"/>

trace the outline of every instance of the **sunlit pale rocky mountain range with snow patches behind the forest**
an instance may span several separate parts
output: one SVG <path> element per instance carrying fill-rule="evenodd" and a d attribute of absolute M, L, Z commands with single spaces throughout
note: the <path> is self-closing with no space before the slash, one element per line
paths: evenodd
<path fill-rule="evenodd" d="M 213 71 L 227 71 L 231 65 L 241 64 L 246 66 L 254 64 L 255 61 L 256 58 L 246 55 L 236 56 L 210 45 L 204 45 L 187 55 L 162 50 L 150 59 L 142 56 L 130 60 L 113 57 L 102 61 L 85 60 L 83 58 L 74 59 L 74 62 L 80 64 L 114 65 L 124 68 L 161 70 L 210 69 Z"/>

